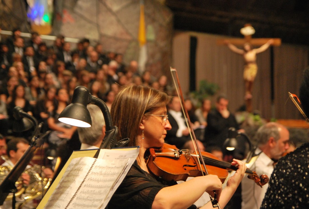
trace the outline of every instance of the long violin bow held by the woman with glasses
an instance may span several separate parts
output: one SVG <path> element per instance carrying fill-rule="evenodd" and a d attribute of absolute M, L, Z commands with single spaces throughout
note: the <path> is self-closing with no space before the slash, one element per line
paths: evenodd
<path fill-rule="evenodd" d="M 177 92 L 177 95 L 178 95 L 179 100 L 180 100 L 181 109 L 182 109 L 182 112 L 184 114 L 187 127 L 189 128 L 189 134 L 190 134 L 191 140 L 193 142 L 195 153 L 197 153 L 199 156 L 202 156 L 201 150 L 200 150 L 200 148 L 197 144 L 197 139 L 195 137 L 194 130 L 193 130 L 192 125 L 191 125 L 191 121 L 190 121 L 190 118 L 189 118 L 188 111 L 184 106 L 184 96 L 183 96 L 182 90 L 180 88 L 180 81 L 179 81 L 178 74 L 177 74 L 177 71 L 176 71 L 175 68 L 171 68 L 171 75 L 172 75 L 172 79 L 173 79 L 173 82 L 174 82 L 175 87 L 176 87 L 176 92 Z M 176 80 L 177 80 L 177 82 L 176 82 Z M 200 162 L 200 158 L 197 158 L 197 160 L 198 160 L 199 166 L 201 167 L 201 170 L 202 170 L 202 165 L 203 165 L 203 167 L 205 169 L 205 173 L 206 173 L 206 175 L 208 175 L 208 171 L 207 171 L 207 168 L 206 168 L 206 165 L 205 165 L 203 158 L 201 158 L 202 165 L 201 165 L 201 162 Z M 202 175 L 204 175 L 203 172 L 202 172 Z M 218 209 L 221 209 L 220 205 L 219 205 L 219 203 L 216 199 L 216 193 L 214 192 L 214 197 L 212 197 L 211 195 L 209 195 L 209 197 L 210 197 L 210 201 L 211 201 L 213 207 L 218 207 Z"/>

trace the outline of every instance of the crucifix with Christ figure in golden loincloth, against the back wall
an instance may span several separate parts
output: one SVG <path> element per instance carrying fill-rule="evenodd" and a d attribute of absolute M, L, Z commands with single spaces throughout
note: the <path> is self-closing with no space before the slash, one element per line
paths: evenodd
<path fill-rule="evenodd" d="M 245 62 L 243 79 L 245 81 L 246 111 L 252 112 L 252 87 L 257 72 L 256 54 L 267 50 L 270 45 L 280 46 L 281 39 L 252 39 L 255 30 L 251 24 L 245 24 L 244 27 L 240 29 L 240 33 L 244 35 L 244 39 L 218 39 L 217 44 L 225 44 L 231 51 L 243 56 Z M 239 49 L 235 45 L 241 45 L 243 46 L 243 49 Z M 253 46 L 259 46 L 259 48 L 253 48 Z"/>

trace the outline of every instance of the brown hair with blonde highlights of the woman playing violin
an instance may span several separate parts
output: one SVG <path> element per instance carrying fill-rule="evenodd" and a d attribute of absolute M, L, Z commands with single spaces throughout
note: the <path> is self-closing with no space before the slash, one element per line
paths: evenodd
<path fill-rule="evenodd" d="M 130 138 L 129 146 L 136 146 L 139 125 L 145 113 L 168 104 L 170 97 L 166 93 L 146 86 L 132 85 L 117 93 L 112 103 L 111 116 L 118 127 L 118 140 Z"/>

